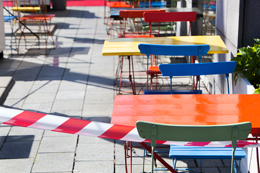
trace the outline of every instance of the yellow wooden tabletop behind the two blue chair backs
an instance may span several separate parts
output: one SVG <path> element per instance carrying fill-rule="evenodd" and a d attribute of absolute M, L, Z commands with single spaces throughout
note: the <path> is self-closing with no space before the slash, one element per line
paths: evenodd
<path fill-rule="evenodd" d="M 212 36 L 180 36 L 180 37 L 152 37 L 152 38 L 116 38 L 107 39 L 104 42 L 102 55 L 104 56 L 127 56 L 142 55 L 138 49 L 138 44 L 168 44 L 168 45 L 195 45 L 208 44 L 210 50 L 208 54 L 228 53 L 225 43 L 218 35 Z"/>

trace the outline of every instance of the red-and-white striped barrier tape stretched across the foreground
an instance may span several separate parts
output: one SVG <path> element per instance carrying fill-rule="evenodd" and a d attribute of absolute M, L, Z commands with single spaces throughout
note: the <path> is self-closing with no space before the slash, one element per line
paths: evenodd
<path fill-rule="evenodd" d="M 49 130 L 76 135 L 93 136 L 100 138 L 150 142 L 139 137 L 135 127 L 113 125 L 111 123 L 88 121 L 83 119 L 68 118 L 50 114 L 22 111 L 0 107 L 0 123 L 5 125 L 20 126 L 26 128 Z M 161 144 L 231 147 L 230 141 L 224 142 L 174 142 L 157 141 Z M 238 141 L 238 147 L 259 147 L 259 143 Z"/>

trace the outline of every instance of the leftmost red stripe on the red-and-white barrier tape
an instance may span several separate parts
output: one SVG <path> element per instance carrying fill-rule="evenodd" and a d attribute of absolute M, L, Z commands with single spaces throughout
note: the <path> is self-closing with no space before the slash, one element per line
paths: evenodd
<path fill-rule="evenodd" d="M 23 111 L 22 113 L 14 116 L 12 119 L 9 119 L 3 123 L 12 126 L 28 127 L 45 115 L 46 114 L 43 113 Z"/>

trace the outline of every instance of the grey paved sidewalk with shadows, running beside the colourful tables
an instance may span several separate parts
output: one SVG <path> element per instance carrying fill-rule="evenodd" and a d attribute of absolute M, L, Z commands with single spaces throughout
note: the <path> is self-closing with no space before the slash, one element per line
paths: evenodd
<path fill-rule="evenodd" d="M 1 106 L 109 123 L 118 57 L 101 55 L 104 40 L 110 38 L 104 7 L 67 7 L 51 13 L 56 14 L 55 50 L 43 55 L 44 42 L 38 50 L 37 40 L 28 38 L 30 50 L 21 43 L 19 55 L 4 52 L 0 76 L 12 76 L 15 84 Z M 134 59 L 136 69 L 143 70 L 142 59 Z M 125 172 L 123 141 L 7 125 L 0 126 L 0 134 L 0 172 Z M 133 172 L 143 171 L 143 154 L 143 149 L 134 148 Z M 172 165 L 168 154 L 162 157 Z M 230 172 L 227 160 L 202 164 L 204 172 Z M 198 160 L 177 163 L 196 170 L 198 165 Z M 145 171 L 150 167 L 148 156 Z"/>

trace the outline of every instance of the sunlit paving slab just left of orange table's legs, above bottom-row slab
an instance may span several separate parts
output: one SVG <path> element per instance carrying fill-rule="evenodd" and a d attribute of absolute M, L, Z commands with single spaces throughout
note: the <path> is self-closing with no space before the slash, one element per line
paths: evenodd
<path fill-rule="evenodd" d="M 114 143 L 79 143 L 76 161 L 113 161 Z"/>

